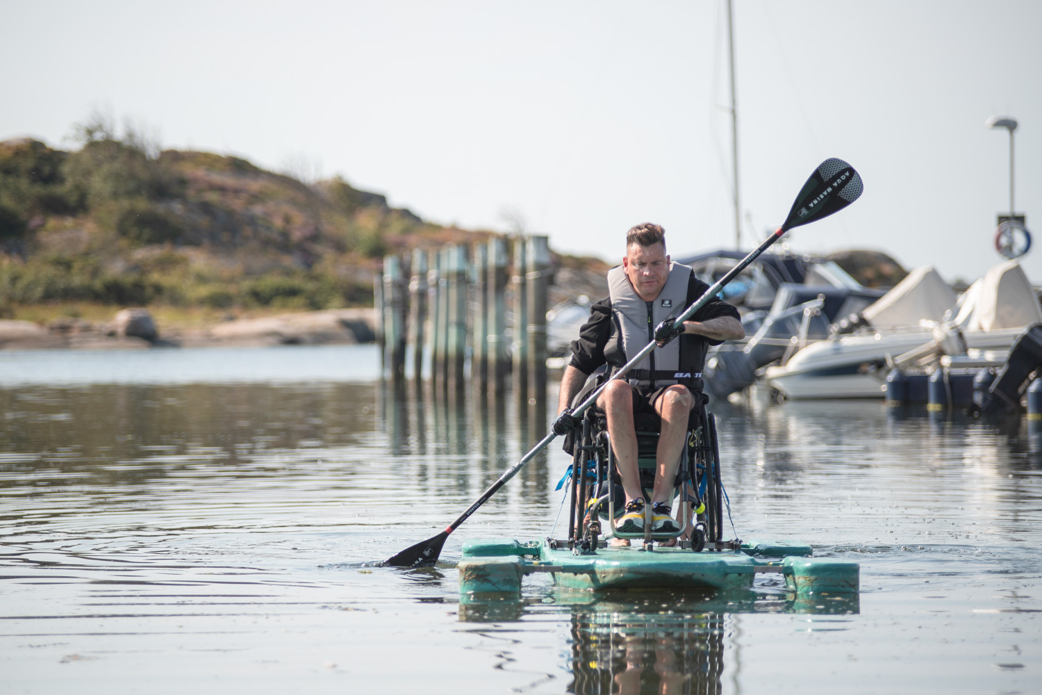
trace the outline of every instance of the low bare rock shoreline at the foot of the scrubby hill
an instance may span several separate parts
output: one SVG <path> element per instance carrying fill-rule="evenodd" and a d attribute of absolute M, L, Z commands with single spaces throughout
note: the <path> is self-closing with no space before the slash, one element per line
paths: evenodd
<path fill-rule="evenodd" d="M 147 309 L 123 309 L 113 320 L 93 324 L 63 319 L 49 326 L 0 320 L 0 350 L 144 349 L 153 347 L 351 345 L 375 340 L 372 308 L 299 312 L 223 321 L 203 328 L 155 326 Z"/>

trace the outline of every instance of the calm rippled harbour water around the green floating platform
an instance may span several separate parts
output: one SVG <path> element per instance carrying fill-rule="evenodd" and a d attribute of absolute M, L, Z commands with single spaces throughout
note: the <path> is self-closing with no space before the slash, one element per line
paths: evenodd
<path fill-rule="evenodd" d="M 738 535 L 862 565 L 842 610 L 526 579 L 461 606 L 477 537 L 551 532 L 545 412 L 374 380 L 369 346 L 0 352 L 0 691 L 1035 693 L 1042 430 L 879 402 L 715 404 Z M 1034 425 L 1033 425 L 1034 426 Z M 556 536 L 564 532 L 559 527 Z"/>

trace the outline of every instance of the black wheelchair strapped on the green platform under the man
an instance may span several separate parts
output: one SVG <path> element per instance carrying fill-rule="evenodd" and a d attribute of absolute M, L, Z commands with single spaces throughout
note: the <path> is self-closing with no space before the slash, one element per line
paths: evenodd
<path fill-rule="evenodd" d="M 594 386 L 599 381 L 597 379 Z M 590 391 L 592 389 L 584 389 L 584 392 Z M 584 397 L 580 393 L 575 402 L 581 402 Z M 645 496 L 645 510 L 651 506 L 660 426 L 656 416 L 638 414 L 635 418 L 637 463 Z M 723 510 L 726 499 L 720 477 L 720 449 L 716 418 L 706 409 L 704 397 L 691 409 L 688 418 L 685 445 L 673 485 L 672 506 L 681 511 L 678 518 L 679 530 L 652 531 L 649 517 L 645 518 L 644 530 L 641 532 L 625 533 L 617 529 L 616 520 L 623 514 L 625 497 L 607 433 L 607 420 L 599 407 L 594 405 L 582 414 L 579 425 L 565 442 L 565 450 L 572 453 L 571 471 L 574 482 L 570 490 L 568 545 L 577 554 L 604 547 L 606 540 L 601 539 L 602 533 L 605 537 L 642 539 L 645 548 L 650 548 L 654 541 L 677 538 L 691 520 L 689 515 L 692 514 L 692 508 L 695 515 L 694 531 L 690 541 L 677 543 L 679 547 L 697 552 L 705 548 L 730 549 L 736 543 L 741 543 L 723 540 Z"/>

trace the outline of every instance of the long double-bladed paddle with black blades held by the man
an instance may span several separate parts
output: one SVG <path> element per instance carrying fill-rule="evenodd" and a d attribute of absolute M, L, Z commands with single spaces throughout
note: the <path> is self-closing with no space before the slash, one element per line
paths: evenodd
<path fill-rule="evenodd" d="M 861 182 L 861 176 L 853 170 L 853 167 L 842 159 L 833 158 L 822 162 L 814 173 L 811 174 L 811 177 L 807 179 L 807 183 L 803 184 L 799 195 L 796 196 L 796 201 L 792 204 L 792 209 L 789 210 L 789 217 L 786 219 L 785 223 L 777 228 L 777 231 L 771 234 L 756 250 L 745 256 L 740 264 L 731 268 L 726 275 L 717 280 L 701 297 L 699 297 L 691 306 L 685 309 L 684 313 L 676 318 L 675 323 L 686 321 L 690 316 L 701 308 L 705 302 L 715 297 L 725 284 L 730 282 L 736 275 L 742 272 L 750 263 L 755 260 L 761 253 L 766 251 L 771 244 L 780 239 L 786 231 L 792 229 L 793 227 L 798 227 L 828 217 L 833 213 L 843 209 L 858 199 L 862 190 L 863 185 Z M 619 369 L 607 381 L 621 378 L 654 348 L 654 341 L 645 345 L 640 352 L 623 365 L 622 368 Z M 581 416 L 587 408 L 597 401 L 597 397 L 600 395 L 600 392 L 604 390 L 607 381 L 604 381 L 600 388 L 590 394 L 586 400 L 573 409 L 572 414 L 576 418 Z M 381 564 L 390 565 L 392 567 L 432 566 L 438 561 L 438 555 L 441 554 L 442 546 L 445 545 L 445 541 L 448 539 L 449 533 L 458 528 L 460 524 L 467 521 L 470 515 L 474 514 L 479 506 L 485 504 L 490 497 L 496 494 L 496 491 L 502 488 L 507 480 L 513 478 L 517 472 L 520 471 L 525 464 L 535 458 L 540 451 L 545 449 L 555 437 L 557 436 L 551 430 L 545 438 L 543 438 L 543 441 L 536 445 L 531 451 L 523 455 L 518 463 L 514 464 L 514 466 L 499 476 L 498 480 L 493 482 L 488 490 L 481 493 L 481 496 L 478 497 L 466 512 L 461 514 L 455 521 L 446 526 L 445 530 L 441 533 L 405 548 L 398 554 L 387 559 Z"/>

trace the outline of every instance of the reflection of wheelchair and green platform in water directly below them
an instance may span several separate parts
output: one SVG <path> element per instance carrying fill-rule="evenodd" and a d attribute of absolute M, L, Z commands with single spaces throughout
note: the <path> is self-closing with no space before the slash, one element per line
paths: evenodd
<path fill-rule="evenodd" d="M 661 695 L 720 693 L 725 659 L 730 651 L 737 682 L 737 621 L 741 614 L 804 614 L 804 630 L 850 629 L 860 598 L 814 597 L 755 592 L 706 594 L 700 591 L 632 591 L 590 594 L 554 591 L 551 599 L 518 600 L 510 596 L 463 596 L 460 620 L 470 623 L 521 621 L 550 600 L 569 615 L 569 693 L 577 695 Z"/>

